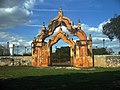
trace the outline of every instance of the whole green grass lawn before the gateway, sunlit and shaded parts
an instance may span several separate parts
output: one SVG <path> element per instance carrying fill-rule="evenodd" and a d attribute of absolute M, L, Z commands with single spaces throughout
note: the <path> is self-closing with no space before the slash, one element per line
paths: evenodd
<path fill-rule="evenodd" d="M 120 90 L 120 68 L 0 67 L 0 90 Z"/>

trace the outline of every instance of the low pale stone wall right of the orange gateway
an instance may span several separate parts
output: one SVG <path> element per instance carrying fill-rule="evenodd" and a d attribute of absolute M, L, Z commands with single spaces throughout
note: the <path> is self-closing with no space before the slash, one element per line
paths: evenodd
<path fill-rule="evenodd" d="M 120 55 L 95 55 L 95 67 L 120 67 Z"/>

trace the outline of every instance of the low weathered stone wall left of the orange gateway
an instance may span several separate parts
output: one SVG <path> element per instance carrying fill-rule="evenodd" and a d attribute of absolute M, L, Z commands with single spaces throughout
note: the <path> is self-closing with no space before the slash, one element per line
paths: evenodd
<path fill-rule="evenodd" d="M 0 66 L 31 66 L 31 56 L 0 56 Z"/>

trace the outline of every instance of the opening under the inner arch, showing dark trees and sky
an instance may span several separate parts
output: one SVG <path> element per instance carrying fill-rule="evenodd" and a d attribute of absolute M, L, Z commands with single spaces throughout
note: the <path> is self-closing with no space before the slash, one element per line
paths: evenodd
<path fill-rule="evenodd" d="M 71 66 L 71 47 L 69 44 L 60 39 L 51 46 L 51 49 L 51 66 Z"/>

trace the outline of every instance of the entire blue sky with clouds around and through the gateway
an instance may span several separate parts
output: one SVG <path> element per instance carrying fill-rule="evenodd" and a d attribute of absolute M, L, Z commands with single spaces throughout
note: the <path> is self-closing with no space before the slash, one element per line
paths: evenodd
<path fill-rule="evenodd" d="M 45 22 L 47 27 L 61 7 L 64 16 L 70 18 L 75 26 L 80 19 L 87 36 L 92 34 L 93 48 L 103 47 L 105 39 L 105 47 L 112 48 L 115 53 L 120 51 L 117 39 L 110 41 L 102 34 L 102 25 L 115 14 L 120 14 L 120 0 L 0 0 L 0 44 L 13 43 L 21 48 L 19 53 L 24 52 L 25 46 L 31 51 L 31 42 L 40 34 L 42 23 Z M 74 41 L 78 39 L 65 27 L 63 30 Z M 53 48 L 66 45 L 69 46 L 60 40 Z"/>

